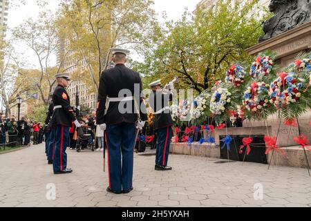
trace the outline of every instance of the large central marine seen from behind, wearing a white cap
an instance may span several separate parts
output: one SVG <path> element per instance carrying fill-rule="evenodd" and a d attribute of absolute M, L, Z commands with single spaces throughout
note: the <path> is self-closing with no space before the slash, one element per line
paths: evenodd
<path fill-rule="evenodd" d="M 124 65 L 129 51 L 118 48 L 111 50 L 115 68 L 105 70 L 100 78 L 96 122 L 103 130 L 106 129 L 109 173 L 107 191 L 119 194 L 133 190 L 133 148 L 135 122 L 138 122 L 138 109 L 134 112 L 134 100 L 136 104 L 142 103 L 140 95 L 134 96 L 134 85 L 140 86 L 139 93 L 141 93 L 142 81 L 139 73 Z M 122 89 L 130 91 L 131 95 L 127 97 L 119 95 Z M 123 112 L 119 106 L 131 107 L 131 110 Z M 140 119 L 137 126 L 142 128 L 147 120 L 147 111 L 140 109 Z"/>

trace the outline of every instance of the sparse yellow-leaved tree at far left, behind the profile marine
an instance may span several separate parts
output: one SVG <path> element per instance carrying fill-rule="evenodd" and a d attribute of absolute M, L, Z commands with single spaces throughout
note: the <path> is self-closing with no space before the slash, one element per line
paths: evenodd
<path fill-rule="evenodd" d="M 57 35 L 55 23 L 55 15 L 46 10 L 41 12 L 37 19 L 28 19 L 12 30 L 15 41 L 27 46 L 37 58 L 39 75 L 32 77 L 31 81 L 35 81 L 35 86 L 39 90 L 39 95 L 44 104 L 48 104 L 48 95 L 53 90 L 54 75 L 66 71 L 62 67 L 64 60 L 70 55 L 70 50 L 62 55 L 58 54 L 62 41 Z M 53 64 L 53 58 L 57 55 L 59 55 L 58 66 Z M 77 62 L 73 62 L 72 66 L 76 65 Z M 20 70 L 20 73 L 26 75 L 23 73 L 23 69 Z"/>

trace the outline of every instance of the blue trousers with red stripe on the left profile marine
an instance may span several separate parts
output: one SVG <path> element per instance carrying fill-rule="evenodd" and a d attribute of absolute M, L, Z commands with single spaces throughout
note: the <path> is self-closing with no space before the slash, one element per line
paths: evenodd
<path fill-rule="evenodd" d="M 54 131 L 54 160 L 53 171 L 62 172 L 67 168 L 66 148 L 70 142 L 69 127 L 57 125 Z"/>

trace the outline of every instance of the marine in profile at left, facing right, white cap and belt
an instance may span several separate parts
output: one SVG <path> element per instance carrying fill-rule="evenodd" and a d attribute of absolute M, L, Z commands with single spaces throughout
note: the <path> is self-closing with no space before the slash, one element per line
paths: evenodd
<path fill-rule="evenodd" d="M 66 148 L 69 144 L 69 128 L 74 122 L 77 127 L 81 124 L 75 118 L 73 107 L 70 106 L 70 98 L 66 92 L 68 86 L 69 74 L 61 73 L 55 75 L 57 87 L 53 93 L 53 115 L 50 119 L 53 137 L 53 171 L 55 174 L 71 173 L 72 169 L 67 168 Z"/>

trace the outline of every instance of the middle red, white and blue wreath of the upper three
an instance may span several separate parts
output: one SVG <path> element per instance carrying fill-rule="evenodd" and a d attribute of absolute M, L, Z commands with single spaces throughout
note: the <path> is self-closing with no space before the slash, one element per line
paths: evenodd
<path fill-rule="evenodd" d="M 272 64 L 272 58 L 269 56 L 257 57 L 251 66 L 249 74 L 254 79 L 267 76 L 272 70 Z"/>

